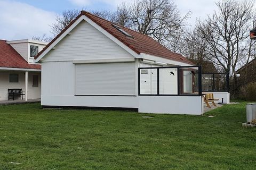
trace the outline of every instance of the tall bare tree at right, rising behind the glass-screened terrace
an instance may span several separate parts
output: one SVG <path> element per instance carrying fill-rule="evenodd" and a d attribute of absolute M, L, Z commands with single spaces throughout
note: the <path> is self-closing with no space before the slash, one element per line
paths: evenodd
<path fill-rule="evenodd" d="M 223 0 L 216 4 L 218 12 L 215 11 L 205 21 L 198 22 L 197 27 L 207 42 L 207 58 L 222 67 L 225 72 L 234 75 L 237 84 L 235 71 L 248 47 L 246 39 L 249 37 L 253 3 Z"/>

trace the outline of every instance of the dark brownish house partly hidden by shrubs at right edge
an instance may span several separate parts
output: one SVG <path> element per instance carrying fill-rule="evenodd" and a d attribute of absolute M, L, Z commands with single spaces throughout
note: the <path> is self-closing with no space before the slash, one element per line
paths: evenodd
<path fill-rule="evenodd" d="M 256 58 L 238 69 L 236 74 L 240 74 L 238 80 L 241 85 L 256 82 Z"/>

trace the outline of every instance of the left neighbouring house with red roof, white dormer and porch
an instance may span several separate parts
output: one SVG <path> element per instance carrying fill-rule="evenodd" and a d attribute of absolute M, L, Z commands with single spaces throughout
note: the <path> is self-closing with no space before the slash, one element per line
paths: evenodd
<path fill-rule="evenodd" d="M 33 60 L 46 45 L 28 39 L 0 40 L 0 100 L 8 100 L 8 89 L 22 89 L 26 100 L 41 98 L 41 64 Z"/>

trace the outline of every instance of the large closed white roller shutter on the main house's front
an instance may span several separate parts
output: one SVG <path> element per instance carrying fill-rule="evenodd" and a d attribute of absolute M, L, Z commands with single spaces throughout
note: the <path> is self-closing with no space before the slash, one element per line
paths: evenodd
<path fill-rule="evenodd" d="M 76 95 L 135 95 L 135 63 L 76 64 Z"/>

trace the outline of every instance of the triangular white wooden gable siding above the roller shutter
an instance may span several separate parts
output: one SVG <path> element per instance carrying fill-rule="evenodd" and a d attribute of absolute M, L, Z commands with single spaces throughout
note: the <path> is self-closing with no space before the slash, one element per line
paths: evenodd
<path fill-rule="evenodd" d="M 81 21 L 46 54 L 44 61 L 96 60 L 130 58 L 131 54 L 103 35 L 86 21 Z"/>

